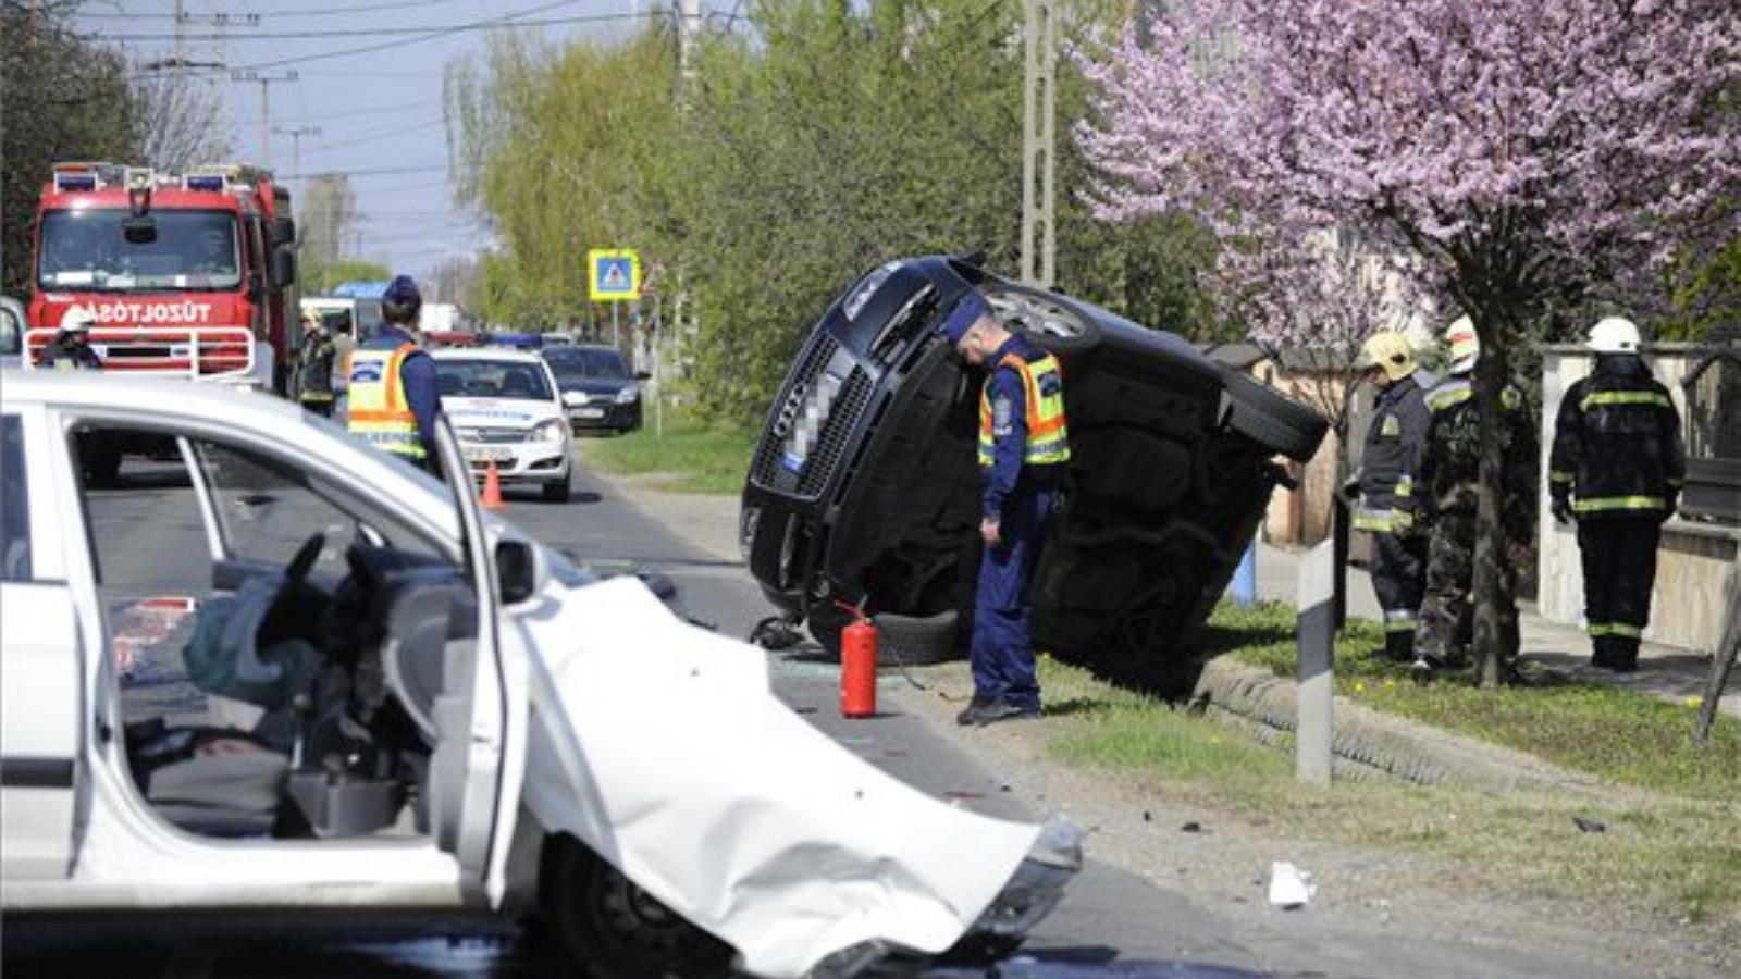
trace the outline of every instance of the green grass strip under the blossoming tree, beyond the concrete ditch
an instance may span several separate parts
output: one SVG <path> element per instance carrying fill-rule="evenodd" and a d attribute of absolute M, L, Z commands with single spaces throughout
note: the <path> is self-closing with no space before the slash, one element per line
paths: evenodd
<path fill-rule="evenodd" d="M 1220 606 L 1212 643 L 1278 676 L 1299 672 L 1294 608 Z M 1372 655 L 1375 622 L 1351 620 L 1335 645 L 1337 693 L 1367 707 L 1478 737 L 1607 780 L 1704 800 L 1741 798 L 1741 721 L 1718 716 L 1711 744 L 1692 746 L 1697 711 L 1602 683 L 1525 667 L 1523 683 L 1478 690 L 1469 674 L 1417 685 L 1407 667 Z"/>

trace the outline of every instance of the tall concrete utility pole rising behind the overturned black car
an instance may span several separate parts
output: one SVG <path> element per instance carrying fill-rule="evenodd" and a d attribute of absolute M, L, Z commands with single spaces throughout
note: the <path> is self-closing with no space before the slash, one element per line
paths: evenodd
<path fill-rule="evenodd" d="M 1057 118 L 1059 31 L 1053 0 L 1024 0 L 1022 35 L 1022 280 L 1050 287 L 1057 270 L 1057 225 L 1053 153 Z"/>

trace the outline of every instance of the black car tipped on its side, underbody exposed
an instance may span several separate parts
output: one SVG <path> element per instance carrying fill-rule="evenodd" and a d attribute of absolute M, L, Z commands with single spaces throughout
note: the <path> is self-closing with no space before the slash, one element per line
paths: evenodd
<path fill-rule="evenodd" d="M 890 261 L 822 317 L 775 399 L 743 486 L 745 561 L 834 650 L 841 603 L 909 662 L 970 634 L 982 375 L 935 334 L 968 287 L 1064 369 L 1071 477 L 1034 573 L 1034 643 L 1179 695 L 1271 490 L 1327 423 L 1163 331 L 991 275 Z"/>

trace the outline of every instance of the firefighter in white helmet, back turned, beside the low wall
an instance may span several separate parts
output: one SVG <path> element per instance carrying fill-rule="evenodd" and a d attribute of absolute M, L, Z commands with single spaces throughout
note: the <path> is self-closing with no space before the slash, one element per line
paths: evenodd
<path fill-rule="evenodd" d="M 1603 319 L 1586 347 L 1596 366 L 1560 402 L 1548 490 L 1553 519 L 1577 521 L 1590 662 L 1631 672 L 1650 620 L 1656 545 L 1680 503 L 1687 462 L 1680 415 L 1638 355 L 1638 327 Z"/>

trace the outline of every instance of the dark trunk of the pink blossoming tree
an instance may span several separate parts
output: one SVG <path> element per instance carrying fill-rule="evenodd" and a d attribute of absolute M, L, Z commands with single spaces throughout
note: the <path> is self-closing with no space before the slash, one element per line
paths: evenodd
<path fill-rule="evenodd" d="M 1501 397 L 1511 368 L 1497 324 L 1476 324 L 1482 338 L 1482 361 L 1475 369 L 1475 408 L 1482 420 L 1482 477 L 1480 505 L 1475 533 L 1475 679 L 1480 686 L 1499 686 L 1504 658 L 1504 629 L 1499 615 L 1501 601 L 1515 601 L 1501 589 L 1506 559 L 1506 531 L 1501 516 L 1504 505 L 1504 416 Z"/>

